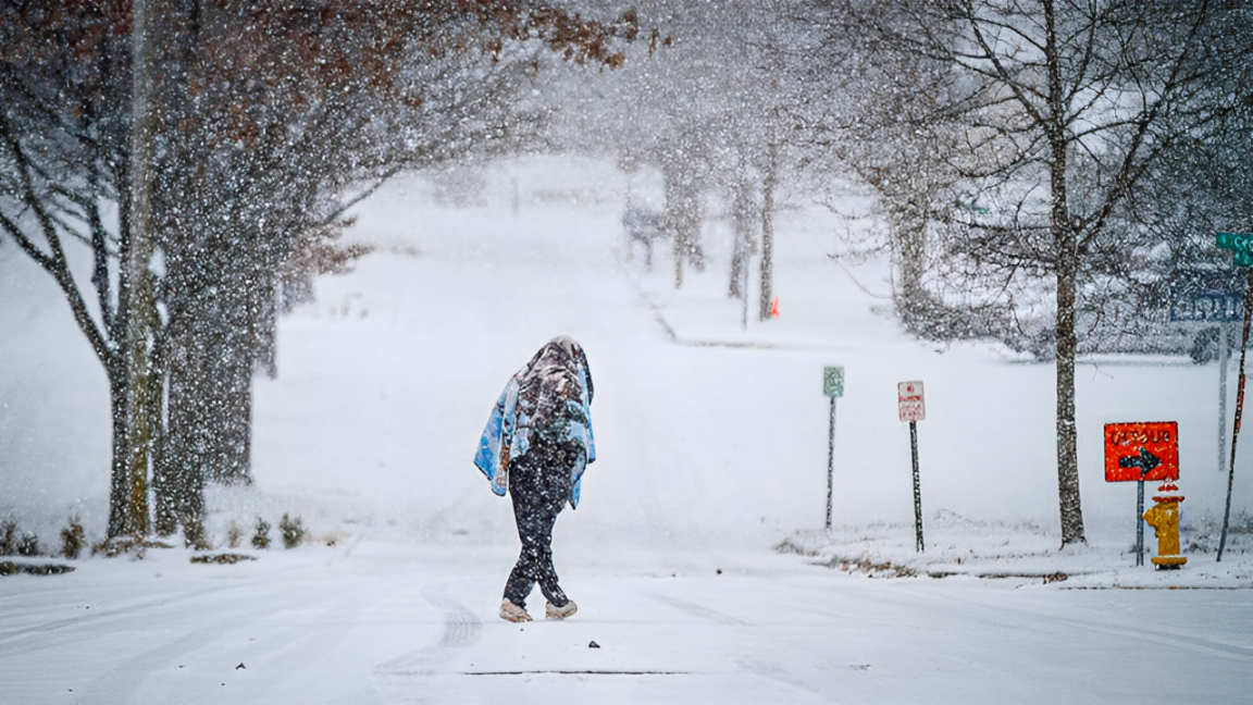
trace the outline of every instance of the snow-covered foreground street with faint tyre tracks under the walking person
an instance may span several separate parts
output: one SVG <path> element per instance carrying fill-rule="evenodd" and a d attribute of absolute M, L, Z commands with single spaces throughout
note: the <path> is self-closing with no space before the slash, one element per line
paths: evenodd
<path fill-rule="evenodd" d="M 1248 591 L 870 580 L 773 554 L 649 575 L 629 556 L 568 559 L 576 617 L 514 625 L 494 615 L 509 558 L 158 551 L 9 582 L 4 701 L 1235 702 L 1253 672 Z"/>

